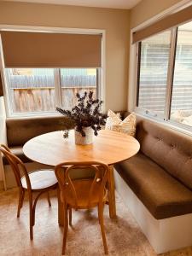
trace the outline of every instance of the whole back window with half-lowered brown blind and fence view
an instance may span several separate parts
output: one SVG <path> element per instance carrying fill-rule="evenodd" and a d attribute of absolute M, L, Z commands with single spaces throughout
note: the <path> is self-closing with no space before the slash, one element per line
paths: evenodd
<path fill-rule="evenodd" d="M 103 33 L 0 29 L 8 115 L 55 113 L 57 106 L 70 109 L 77 103 L 77 92 L 92 90 L 102 99 Z"/>

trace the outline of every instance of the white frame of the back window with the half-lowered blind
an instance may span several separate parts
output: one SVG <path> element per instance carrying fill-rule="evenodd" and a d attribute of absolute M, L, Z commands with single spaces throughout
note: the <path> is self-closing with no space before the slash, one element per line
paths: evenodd
<path fill-rule="evenodd" d="M 66 27 L 48 27 L 48 26 L 17 26 L 17 25 L 1 25 L 0 30 L 10 30 L 10 31 L 20 31 L 20 32 L 59 32 L 59 33 L 76 33 L 76 34 L 89 34 L 96 35 L 102 34 L 102 67 L 99 68 L 98 72 L 99 84 L 96 84 L 97 96 L 100 100 L 103 101 L 102 112 L 106 111 L 106 31 L 103 29 L 81 29 L 81 28 L 66 28 Z M 33 113 L 13 113 L 10 109 L 9 104 L 9 90 L 6 74 L 4 69 L 4 60 L 3 60 L 3 47 L 2 40 L 0 38 L 0 72 L 3 83 L 3 92 L 4 92 L 4 102 L 5 110 L 7 117 L 25 117 L 25 116 L 46 116 L 46 115 L 58 115 L 56 112 L 33 112 Z M 34 67 L 35 68 L 35 67 Z M 38 67 L 37 67 L 38 68 Z M 74 67 L 75 68 L 75 67 Z M 55 104 L 61 106 L 61 93 L 58 93 L 60 86 L 58 86 L 58 70 L 54 68 L 54 78 L 55 78 Z M 96 69 L 98 70 L 98 68 Z M 97 81 L 98 82 L 98 81 Z M 99 85 L 99 86 L 98 86 Z"/>

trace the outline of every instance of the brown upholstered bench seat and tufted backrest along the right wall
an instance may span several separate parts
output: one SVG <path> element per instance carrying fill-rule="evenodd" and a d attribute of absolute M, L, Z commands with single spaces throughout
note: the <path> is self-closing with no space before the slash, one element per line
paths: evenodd
<path fill-rule="evenodd" d="M 137 119 L 138 154 L 115 165 L 156 219 L 192 212 L 192 137 Z"/>

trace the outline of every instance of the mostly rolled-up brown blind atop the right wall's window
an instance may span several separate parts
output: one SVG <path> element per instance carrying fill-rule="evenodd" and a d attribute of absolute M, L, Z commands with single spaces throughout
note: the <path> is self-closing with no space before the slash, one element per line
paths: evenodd
<path fill-rule="evenodd" d="M 185 8 L 175 14 L 169 15 L 164 19 L 158 20 L 154 24 L 147 26 L 137 32 L 133 33 L 132 43 L 142 41 L 144 38 L 148 38 L 158 32 L 164 31 L 173 26 L 182 24 L 185 21 L 192 19 L 192 5 L 188 8 Z"/>

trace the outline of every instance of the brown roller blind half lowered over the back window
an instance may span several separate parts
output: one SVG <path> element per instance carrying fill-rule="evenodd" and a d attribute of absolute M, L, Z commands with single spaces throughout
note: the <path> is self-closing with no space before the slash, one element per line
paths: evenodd
<path fill-rule="evenodd" d="M 2 31 L 5 67 L 101 67 L 102 35 Z"/>

